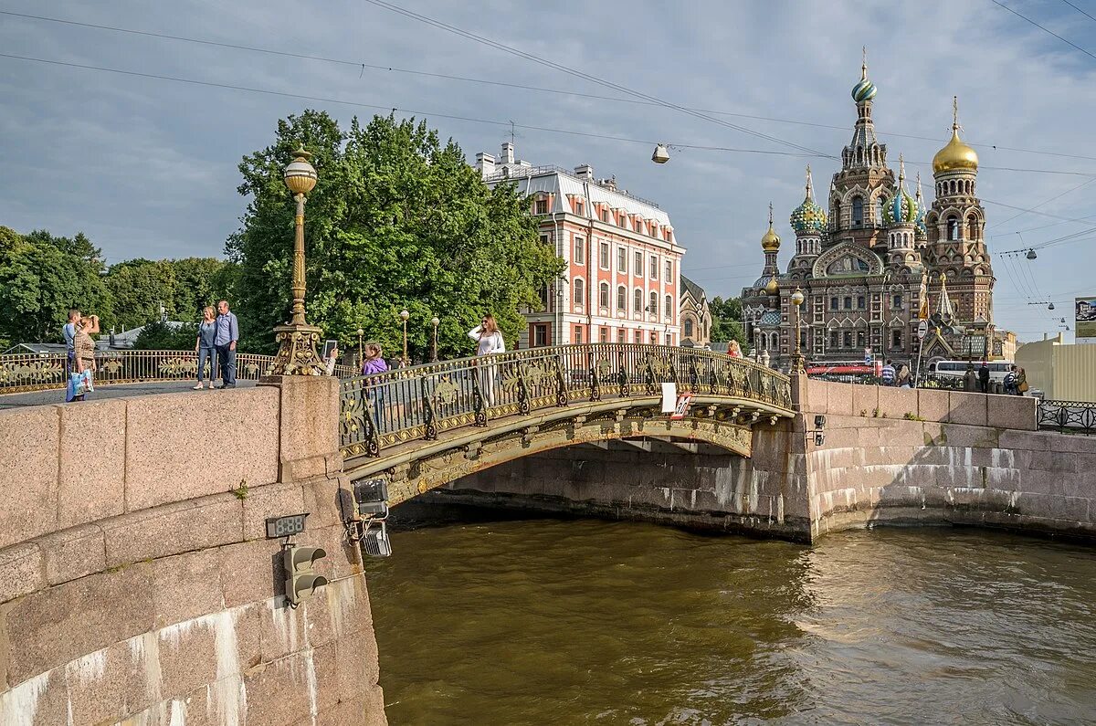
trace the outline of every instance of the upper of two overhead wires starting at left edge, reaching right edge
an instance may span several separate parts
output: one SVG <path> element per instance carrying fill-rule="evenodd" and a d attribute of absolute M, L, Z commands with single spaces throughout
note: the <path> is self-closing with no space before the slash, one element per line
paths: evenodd
<path fill-rule="evenodd" d="M 410 69 L 410 68 L 397 68 L 395 66 L 369 64 L 369 63 L 364 63 L 364 61 L 361 61 L 361 60 L 347 60 L 347 59 L 342 59 L 342 58 L 329 58 L 329 57 L 324 57 L 324 56 L 315 56 L 315 55 L 308 55 L 308 54 L 289 53 L 289 52 L 286 52 L 286 50 L 276 50 L 276 49 L 273 49 L 273 48 L 262 48 L 262 47 L 256 47 L 256 46 L 242 45 L 242 44 L 238 44 L 238 43 L 224 43 L 224 42 L 219 42 L 219 41 L 208 41 L 208 39 L 204 39 L 204 38 L 187 37 L 187 36 L 183 36 L 183 35 L 171 35 L 171 34 L 168 34 L 168 33 L 157 33 L 157 32 L 152 32 L 152 31 L 141 31 L 141 30 L 129 29 L 129 27 L 119 27 L 119 26 L 116 26 L 116 25 L 99 25 L 99 24 L 95 24 L 95 23 L 83 23 L 83 22 L 73 21 L 73 20 L 65 20 L 65 19 L 60 19 L 60 18 L 48 18 L 46 15 L 32 15 L 32 14 L 28 14 L 28 13 L 18 13 L 18 12 L 12 12 L 12 11 L 7 11 L 7 10 L 0 10 L 0 15 L 10 15 L 10 16 L 13 16 L 13 18 L 23 18 L 23 19 L 26 19 L 26 20 L 37 20 L 37 21 L 43 21 L 43 22 L 60 23 L 60 24 L 64 24 L 64 25 L 73 25 L 73 26 L 78 26 L 78 27 L 89 27 L 89 29 L 101 30 L 101 31 L 110 31 L 110 32 L 114 32 L 114 33 L 126 33 L 126 34 L 130 34 L 130 35 L 142 35 L 142 36 L 147 36 L 147 37 L 155 37 L 155 38 L 161 38 L 161 39 L 168 39 L 168 41 L 179 41 L 179 42 L 182 42 L 182 43 L 194 43 L 194 44 L 198 44 L 198 45 L 208 45 L 208 46 L 214 46 L 214 47 L 230 48 L 230 49 L 233 49 L 233 50 L 244 50 L 244 52 L 248 52 L 248 53 L 259 53 L 259 54 L 266 54 L 266 55 L 272 55 L 272 56 L 281 56 L 281 57 L 286 57 L 286 58 L 299 58 L 299 59 L 305 59 L 305 60 L 315 60 L 315 61 L 318 61 L 318 63 L 328 63 L 328 64 L 334 64 L 334 65 L 339 65 L 339 66 L 346 66 L 346 67 L 351 67 L 351 68 L 359 68 L 362 70 L 365 70 L 365 69 L 381 70 L 381 71 L 396 72 L 396 73 L 407 73 L 407 75 L 411 75 L 411 76 L 423 76 L 425 78 L 439 78 L 439 79 L 444 79 L 444 80 L 460 81 L 460 82 L 467 82 L 467 83 L 481 83 L 481 84 L 484 84 L 484 86 L 498 86 L 498 87 L 501 87 L 501 88 L 513 88 L 513 89 L 521 89 L 521 90 L 526 90 L 526 91 L 536 91 L 536 92 L 539 92 L 539 93 L 555 93 L 555 94 L 559 94 L 559 95 L 571 95 L 571 97 L 575 97 L 575 98 L 592 99 L 592 100 L 597 100 L 597 101 L 610 101 L 610 102 L 614 102 L 614 103 L 630 103 L 630 104 L 648 105 L 648 106 L 663 106 L 663 105 L 665 105 L 665 104 L 663 104 L 661 102 L 646 101 L 646 100 L 642 100 L 642 99 L 619 98 L 619 97 L 613 97 L 613 95 L 601 95 L 601 94 L 597 94 L 597 93 L 582 93 L 580 91 L 570 91 L 570 90 L 564 90 L 564 89 L 544 88 L 544 87 L 539 87 L 539 86 L 527 86 L 527 84 L 524 84 L 524 83 L 512 83 L 512 82 L 506 82 L 506 81 L 489 80 L 489 79 L 483 79 L 483 78 L 470 78 L 470 77 L 467 77 L 467 76 L 453 76 L 453 75 L 449 75 L 449 73 L 437 73 L 437 72 L 431 72 L 431 71 L 425 71 L 425 70 L 414 70 L 414 69 Z M 699 107 L 695 107 L 695 106 L 686 106 L 686 107 L 689 111 L 696 111 L 698 113 L 716 114 L 716 115 L 720 115 L 720 116 L 734 116 L 734 117 L 738 117 L 738 118 L 750 118 L 750 120 L 753 120 L 753 121 L 768 121 L 768 122 L 780 123 L 780 124 L 791 124 L 791 125 L 796 125 L 796 126 L 809 126 L 809 127 L 813 127 L 813 128 L 826 128 L 826 129 L 834 129 L 834 131 L 842 131 L 842 132 L 847 132 L 848 131 L 848 126 L 838 126 L 838 125 L 834 125 L 834 124 L 820 124 L 820 123 L 814 123 L 814 122 L 809 122 L 809 121 L 800 121 L 800 120 L 794 120 L 794 118 L 779 118 L 779 117 L 775 117 L 775 116 L 758 116 L 758 115 L 755 115 L 755 114 L 737 113 L 737 112 L 733 112 L 733 111 L 718 111 L 718 110 L 713 110 L 713 109 L 699 109 Z M 917 135 L 914 135 L 914 134 L 899 134 L 899 133 L 894 133 L 894 132 L 888 132 L 888 131 L 884 131 L 884 129 L 877 129 L 877 133 L 881 134 L 881 135 L 884 135 L 884 136 L 891 136 L 891 137 L 894 137 L 894 138 L 910 138 L 910 139 L 922 140 L 922 141 L 939 143 L 939 141 L 943 140 L 940 138 L 936 138 L 936 137 L 933 137 L 933 136 L 917 136 Z M 1062 158 L 1066 158 L 1066 159 L 1078 159 L 1078 160 L 1085 160 L 1085 161 L 1096 161 L 1096 157 L 1088 157 L 1088 156 L 1076 155 L 1076 154 L 1062 154 L 1062 152 L 1058 152 L 1058 151 L 1049 151 L 1049 150 L 1046 150 L 1046 149 L 1027 149 L 1027 148 L 1020 148 L 1020 147 L 1014 147 L 1014 146 L 1002 146 L 1002 145 L 997 145 L 997 144 L 989 144 L 989 143 L 975 141 L 975 140 L 969 140 L 969 144 L 972 145 L 972 146 L 981 146 L 983 148 L 992 148 L 992 149 L 995 149 L 995 150 L 1003 150 L 1003 151 L 1017 151 L 1017 152 L 1021 152 L 1021 154 L 1038 154 L 1040 156 L 1055 156 L 1055 157 L 1062 157 Z M 831 158 L 831 157 L 826 157 L 826 158 Z"/>

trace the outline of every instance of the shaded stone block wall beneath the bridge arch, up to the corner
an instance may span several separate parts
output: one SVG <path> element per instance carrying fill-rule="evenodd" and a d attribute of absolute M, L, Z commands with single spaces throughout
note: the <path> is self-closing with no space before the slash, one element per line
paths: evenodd
<path fill-rule="evenodd" d="M 806 481 L 791 422 L 758 424 L 753 456 L 610 442 L 557 449 L 458 479 L 427 501 L 572 512 L 806 541 Z"/>

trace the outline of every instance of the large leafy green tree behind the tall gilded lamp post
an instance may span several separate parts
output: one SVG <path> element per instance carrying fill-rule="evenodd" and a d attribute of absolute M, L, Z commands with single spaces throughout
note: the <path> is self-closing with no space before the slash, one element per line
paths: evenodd
<path fill-rule="evenodd" d="M 471 354 L 466 333 L 488 313 L 512 342 L 524 327 L 520 307 L 539 306 L 537 288 L 563 269 L 515 188 L 489 190 L 424 122 L 355 118 L 343 132 L 327 113 L 305 111 L 240 163 L 239 192 L 251 202 L 226 250 L 239 264 L 248 350 L 273 352 L 271 328 L 289 317 L 295 205 L 282 169 L 299 144 L 319 174 L 305 211 L 308 320 L 344 350 L 356 349 L 363 328 L 386 355 L 402 351 L 403 308 L 413 356 L 429 355 L 434 316 L 442 356 Z"/>

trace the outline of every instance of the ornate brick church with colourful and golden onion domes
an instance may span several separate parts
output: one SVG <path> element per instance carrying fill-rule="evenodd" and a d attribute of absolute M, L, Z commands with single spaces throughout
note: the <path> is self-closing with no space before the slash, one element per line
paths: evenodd
<path fill-rule="evenodd" d="M 803 202 L 790 215 L 795 253 L 785 270 L 773 228 L 761 239 L 761 276 L 742 291 L 746 336 L 754 354 L 788 370 L 795 353 L 792 296 L 802 294 L 800 350 L 809 362 L 875 360 L 924 364 L 940 359 L 1009 356 L 1015 336 L 993 324 L 993 269 L 985 248 L 985 211 L 977 196 L 978 154 L 959 136 L 952 100 L 951 140 L 933 159 L 934 200 L 921 175 L 911 184 L 899 156 L 888 166 L 876 137 L 871 105 L 878 89 L 867 59 L 853 87 L 856 124 L 841 169 L 815 200 L 807 167 Z M 911 191 L 912 188 L 912 191 Z M 928 319 L 922 342 L 918 322 Z M 986 355 L 987 353 L 987 355 Z M 1009 356 L 1011 358 L 1011 356 Z"/>

